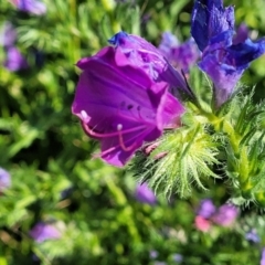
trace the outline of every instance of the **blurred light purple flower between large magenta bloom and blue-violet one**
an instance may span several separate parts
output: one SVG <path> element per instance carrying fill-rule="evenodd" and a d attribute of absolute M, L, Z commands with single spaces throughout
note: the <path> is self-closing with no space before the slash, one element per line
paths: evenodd
<path fill-rule="evenodd" d="M 200 51 L 192 38 L 180 43 L 170 32 L 163 32 L 158 49 L 177 70 L 184 73 L 188 73 L 200 57 Z"/>

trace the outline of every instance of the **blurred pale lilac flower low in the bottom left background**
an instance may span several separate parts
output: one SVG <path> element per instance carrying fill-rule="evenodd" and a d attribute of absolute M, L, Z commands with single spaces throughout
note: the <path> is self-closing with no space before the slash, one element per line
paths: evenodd
<path fill-rule="evenodd" d="M 40 222 L 30 231 L 30 236 L 41 243 L 46 240 L 59 240 L 62 235 L 54 225 Z"/>

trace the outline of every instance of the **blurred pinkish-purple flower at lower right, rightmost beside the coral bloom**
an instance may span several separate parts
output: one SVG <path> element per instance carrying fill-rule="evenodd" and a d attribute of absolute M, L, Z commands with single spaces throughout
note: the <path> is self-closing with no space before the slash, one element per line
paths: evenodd
<path fill-rule="evenodd" d="M 222 226 L 230 226 L 239 215 L 236 206 L 231 204 L 224 204 L 219 208 L 216 213 L 212 216 L 212 221 Z"/>

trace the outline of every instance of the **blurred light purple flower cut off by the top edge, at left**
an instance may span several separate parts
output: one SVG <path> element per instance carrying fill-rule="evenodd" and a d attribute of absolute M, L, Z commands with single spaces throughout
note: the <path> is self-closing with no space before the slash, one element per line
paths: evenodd
<path fill-rule="evenodd" d="M 45 3 L 38 0 L 11 0 L 11 2 L 21 11 L 41 15 L 46 13 Z"/>

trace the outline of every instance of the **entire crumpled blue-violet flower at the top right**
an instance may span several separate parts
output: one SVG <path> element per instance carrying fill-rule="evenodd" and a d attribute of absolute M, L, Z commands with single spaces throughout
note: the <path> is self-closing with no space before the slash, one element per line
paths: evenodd
<path fill-rule="evenodd" d="M 213 81 L 215 105 L 220 107 L 250 63 L 264 54 L 265 39 L 233 43 L 234 8 L 223 8 L 222 0 L 195 1 L 191 34 L 202 52 L 199 67 Z"/>

